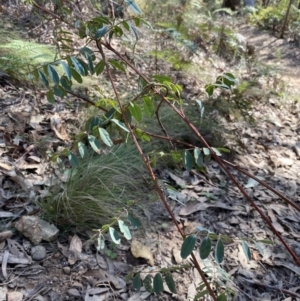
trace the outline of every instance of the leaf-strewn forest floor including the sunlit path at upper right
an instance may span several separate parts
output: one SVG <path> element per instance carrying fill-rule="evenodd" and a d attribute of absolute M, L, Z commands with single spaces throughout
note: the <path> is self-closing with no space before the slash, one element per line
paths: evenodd
<path fill-rule="evenodd" d="M 256 65 L 268 65 L 273 70 L 273 76 L 243 94 L 245 99 L 253 101 L 251 113 L 255 124 L 230 118 L 229 121 L 223 120 L 224 127 L 234 132 L 236 137 L 232 143 L 238 146 L 233 163 L 255 174 L 299 205 L 300 48 L 242 21 L 237 28 L 255 47 Z M 47 36 L 49 32 L 44 35 Z M 217 64 L 225 70 L 234 68 L 224 61 Z M 205 70 L 206 73 L 211 72 L 209 68 L 211 66 Z M 214 73 L 218 74 L 218 68 Z M 202 93 L 203 83 L 199 81 L 195 85 L 193 76 L 187 75 L 183 81 L 189 91 L 186 97 Z M 49 179 L 45 172 L 46 163 L 30 145 L 26 148 L 22 146 L 23 149 L 13 146 L 16 133 L 22 135 L 26 125 L 30 124 L 40 136 L 41 133 L 45 136 L 45 133 L 52 132 L 53 139 L 46 141 L 51 144 L 67 140 L 68 134 L 52 123 L 54 111 L 49 113 L 53 108 L 47 104 L 43 93 L 26 87 L 22 87 L 22 93 L 17 93 L 12 86 L 3 86 L 0 92 L 1 124 L 9 127 L 1 136 L 0 217 L 4 220 L 2 228 L 7 231 L 1 232 L 1 235 L 8 240 L 2 239 L 1 242 L 0 301 L 193 300 L 197 285 L 201 282 L 194 269 L 179 268 L 172 272 L 177 295 L 170 293 L 167 287 L 165 294 L 159 296 L 143 289 L 135 292 L 124 281 L 132 270 L 141 275 L 155 275 L 162 267 L 189 263 L 180 257 L 180 235 L 160 202 L 151 204 L 145 210 L 147 228 L 133 233 L 135 243 L 138 241 L 140 246 L 149 248 L 147 252 L 150 254 L 144 257 L 153 258 L 154 265 L 151 267 L 147 261 L 137 260 L 131 255 L 129 242 L 125 242 L 123 248 L 114 250 L 116 258 L 112 259 L 95 252 L 93 246 L 82 248 L 86 237 L 78 235 L 79 238 L 74 233 L 60 234 L 52 243 L 43 241 L 39 246 L 44 247 L 46 253 L 40 259 L 32 258 L 38 249 L 33 249 L 26 238 L 12 230 L 13 222 L 21 215 L 36 214 L 30 194 L 38 189 L 42 191 Z M 32 103 L 40 106 L 34 109 L 34 114 Z M 62 113 L 57 111 L 55 118 L 72 124 L 76 114 L 77 111 L 65 109 Z M 46 143 L 37 137 L 35 141 L 40 141 L 39 146 Z M 7 151 L 8 146 L 13 152 Z M 41 146 L 44 151 L 45 148 Z M 29 163 L 28 157 L 23 160 L 28 154 Z M 234 168 L 230 170 L 299 258 L 300 213 L 262 185 Z M 225 261 L 221 266 L 213 260 L 202 262 L 199 258 L 199 261 L 211 279 L 222 280 L 234 292 L 233 300 L 300 300 L 300 267 L 216 162 L 207 165 L 209 177 L 170 169 L 161 173 L 170 185 L 177 187 L 176 197 L 180 202 L 170 200 L 170 205 L 176 217 L 184 221 L 186 233 L 195 233 L 196 227 L 201 227 L 216 233 L 215 238 L 221 235 L 224 239 Z M 250 246 L 251 261 L 244 254 L 242 240 Z M 259 242 L 263 240 L 274 244 Z M 206 297 L 202 300 L 211 299 Z"/>

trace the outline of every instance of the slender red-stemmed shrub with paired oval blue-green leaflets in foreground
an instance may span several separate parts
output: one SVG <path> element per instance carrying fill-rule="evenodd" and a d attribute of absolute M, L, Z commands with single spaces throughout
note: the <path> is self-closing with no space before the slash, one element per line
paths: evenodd
<path fill-rule="evenodd" d="M 76 33 L 78 39 L 85 41 L 85 46 L 80 48 L 77 53 L 64 53 L 61 54 L 60 59 L 57 61 L 46 64 L 32 70 L 32 76 L 37 80 L 40 79 L 45 86 L 48 87 L 47 97 L 50 102 L 55 102 L 56 97 L 63 98 L 68 93 L 74 93 L 72 91 L 72 84 L 75 80 L 78 83 L 82 83 L 83 77 L 85 76 L 98 76 L 106 72 L 106 75 L 111 84 L 114 99 L 105 100 L 102 99 L 101 103 L 93 103 L 90 99 L 83 98 L 90 105 L 95 107 L 97 114 L 89 120 L 86 131 L 79 135 L 79 138 L 74 140 L 72 148 L 66 149 L 66 154 L 71 162 L 71 164 L 76 168 L 79 164 L 77 159 L 75 148 L 81 157 L 85 157 L 88 153 L 87 147 L 90 146 L 96 153 L 100 156 L 103 155 L 103 145 L 107 148 L 113 147 L 115 144 L 126 143 L 129 138 L 135 145 L 139 155 L 141 156 L 143 163 L 151 177 L 154 185 L 154 189 L 158 196 L 160 197 L 162 203 L 164 204 L 168 214 L 172 218 L 174 225 L 177 227 L 178 232 L 182 236 L 183 243 L 181 247 L 181 257 L 189 258 L 191 264 L 199 272 L 202 283 L 199 285 L 199 294 L 197 298 L 201 298 L 205 294 L 209 294 L 213 300 L 226 300 L 226 294 L 222 288 L 214 290 L 211 286 L 209 279 L 205 276 L 204 271 L 200 268 L 200 264 L 194 253 L 195 247 L 197 245 L 197 238 L 199 235 L 191 234 L 186 235 L 182 230 L 181 225 L 178 224 L 172 210 L 170 209 L 166 196 L 162 191 L 157 177 L 153 172 L 151 166 L 151 159 L 143 151 L 141 147 L 141 142 L 148 142 L 151 138 L 163 139 L 170 143 L 172 146 L 174 138 L 170 137 L 164 128 L 163 123 L 160 119 L 160 109 L 161 107 L 168 106 L 170 110 L 175 112 L 179 118 L 182 119 L 184 123 L 190 128 L 191 132 L 197 136 L 199 142 L 203 147 L 197 147 L 194 145 L 186 145 L 187 147 L 182 152 L 179 152 L 180 160 L 187 170 L 192 168 L 201 169 L 204 166 L 205 160 L 212 157 L 220 167 L 225 171 L 232 182 L 239 188 L 241 193 L 250 202 L 250 204 L 259 212 L 264 221 L 272 229 L 274 234 L 279 238 L 291 256 L 294 258 L 295 262 L 300 265 L 300 261 L 287 243 L 283 240 L 282 236 L 277 232 L 269 219 L 265 216 L 262 210 L 253 202 L 253 200 L 248 196 L 244 188 L 237 181 L 237 179 L 228 170 L 227 166 L 235 168 L 242 173 L 246 173 L 238 166 L 227 162 L 220 157 L 220 151 L 222 149 L 217 149 L 211 147 L 206 140 L 203 138 L 198 128 L 190 122 L 189 118 L 185 115 L 183 110 L 183 100 L 180 95 L 182 92 L 182 87 L 175 84 L 172 79 L 167 75 L 153 75 L 148 78 L 144 73 L 142 73 L 134 64 L 134 59 L 129 59 L 128 55 L 121 54 L 120 51 L 114 46 L 113 41 L 119 39 L 126 34 L 131 34 L 134 39 L 134 46 L 139 40 L 139 34 L 137 27 L 142 24 L 149 27 L 151 30 L 151 24 L 149 24 L 145 19 L 141 17 L 141 10 L 139 6 L 133 0 L 125 0 L 123 5 L 126 5 L 129 10 L 132 11 L 133 15 L 127 19 L 117 20 L 105 16 L 93 17 L 85 22 L 76 21 Z M 65 21 L 64 17 L 58 16 L 53 12 L 48 12 L 46 9 L 38 6 L 39 9 L 46 13 L 49 13 L 52 17 L 63 22 L 66 26 L 71 26 L 70 21 Z M 66 12 L 67 13 L 67 12 Z M 66 30 L 64 30 L 66 34 Z M 64 43 L 71 43 L 70 39 L 65 39 Z M 65 48 L 66 49 L 66 48 Z M 73 49 L 69 46 L 69 49 Z M 96 49 L 93 50 L 93 49 Z M 108 53 L 110 54 L 108 56 Z M 134 53 L 133 53 L 134 57 Z M 61 75 L 57 70 L 58 66 L 61 66 L 64 73 Z M 127 69 L 131 69 L 136 75 L 136 83 L 138 89 L 135 95 L 132 95 L 130 99 L 128 96 L 123 99 L 120 95 L 120 91 L 116 85 L 113 73 L 115 70 L 118 72 L 126 73 Z M 206 92 L 208 96 L 212 95 L 214 89 L 221 88 L 231 90 L 231 87 L 237 84 L 236 79 L 231 73 L 224 73 L 220 75 L 216 82 L 213 84 L 208 84 L 206 86 Z M 198 101 L 200 118 L 203 117 L 204 108 L 201 101 Z M 144 116 L 151 117 L 153 123 L 157 122 L 161 128 L 162 135 L 152 135 L 151 132 L 146 132 L 143 128 Z M 152 137 L 151 137 L 152 136 Z M 176 141 L 180 143 L 180 141 Z M 223 149 L 224 150 L 224 149 Z M 177 157 L 178 160 L 178 157 Z M 260 181 L 253 175 L 246 173 L 249 177 L 255 179 L 268 189 L 270 188 L 267 184 Z M 283 195 L 272 189 L 274 193 L 279 195 L 285 201 L 287 201 L 294 208 L 299 210 L 300 208 L 295 205 L 290 200 L 286 199 Z M 300 211 L 300 210 L 299 210 Z M 139 226 L 139 222 L 135 217 L 131 215 L 119 215 L 112 220 L 111 223 L 104 225 L 95 234 L 95 238 L 98 239 L 98 248 L 104 248 L 104 236 L 105 232 L 109 232 L 114 243 L 120 243 L 120 237 L 115 226 L 118 226 L 123 236 L 126 239 L 131 239 L 131 233 L 129 227 L 124 222 L 124 219 L 134 226 Z M 220 264 L 224 259 L 224 244 L 223 239 L 220 236 L 216 238 L 216 245 L 214 248 L 214 258 L 215 263 Z M 250 249 L 246 241 L 242 242 L 243 249 L 247 258 L 251 259 Z M 202 238 L 199 253 L 200 258 L 205 260 L 212 252 L 212 241 L 211 233 L 206 232 L 204 238 Z M 150 292 L 160 293 L 163 291 L 163 281 L 166 282 L 171 292 L 176 292 L 176 286 L 170 273 L 172 268 L 168 271 L 161 271 L 157 273 L 154 277 L 151 275 L 147 276 L 143 280 L 143 284 L 147 290 Z M 137 274 L 133 278 L 133 286 L 136 289 L 140 289 L 142 285 L 140 275 Z"/>

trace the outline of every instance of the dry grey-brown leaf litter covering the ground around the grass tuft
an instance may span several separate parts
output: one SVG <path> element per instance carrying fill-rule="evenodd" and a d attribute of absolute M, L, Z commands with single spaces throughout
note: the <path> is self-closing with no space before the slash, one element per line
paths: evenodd
<path fill-rule="evenodd" d="M 245 28 L 242 31 L 245 32 Z M 256 36 L 260 34 L 256 33 Z M 266 40 L 269 38 L 267 36 Z M 249 40 L 254 41 L 251 32 Z M 292 89 L 295 90 L 295 87 Z M 47 194 L 47 187 L 50 186 L 50 173 L 45 159 L 47 151 L 69 141 L 68 126 L 76 120 L 77 112 L 67 109 L 62 103 L 47 104 L 42 93 L 38 98 L 43 106 L 36 110 L 32 101 L 37 99 L 30 89 L 25 93 L 13 87 L 0 90 L 1 95 L 5 96 L 5 101 L 1 103 L 5 114 L 1 116 L 0 128 L 0 180 L 3 183 L 0 188 L 1 218 L 3 229 L 11 229 L 12 222 L 21 215 L 34 212 L 29 209 L 31 200 Z M 255 171 L 260 179 L 265 179 L 296 202 L 299 202 L 300 195 L 299 112 L 299 104 L 290 103 L 282 108 L 274 97 L 270 97 L 267 103 L 257 104 L 253 112 L 260 130 L 241 123 L 230 125 L 238 129 L 241 145 L 245 146 L 244 150 L 237 151 L 235 163 L 251 172 Z M 28 126 L 31 130 L 29 140 L 26 140 L 22 134 L 28 133 Z M 50 129 L 52 135 L 49 136 Z M 47 137 L 45 133 L 48 133 Z M 225 180 L 222 170 L 213 162 L 207 165 L 207 170 L 208 175 L 214 175 L 213 178 L 203 180 L 201 175 L 192 172 L 187 176 L 186 173 L 167 171 L 169 185 L 175 182 L 179 187 L 176 188 L 178 194 L 169 201 L 170 204 L 173 201 L 177 218 L 185 221 L 186 233 L 197 233 L 197 227 L 209 229 L 198 231 L 199 237 L 203 237 L 201 233 L 207 235 L 210 232 L 213 245 L 220 235 L 223 238 L 223 266 L 216 265 L 212 258 L 202 262 L 198 254 L 202 268 L 228 281 L 227 285 L 231 286 L 239 300 L 289 300 L 289 296 L 300 298 L 299 267 L 295 266 L 257 212 L 238 194 L 232 183 Z M 242 175 L 237 177 L 277 231 L 300 256 L 300 213 L 257 185 L 257 182 Z M 139 251 L 132 253 L 136 257 L 146 258 L 156 269 L 170 267 L 174 259 L 177 264 L 187 264 L 178 256 L 182 241 L 174 225 L 161 213 L 163 209 L 160 206 L 155 204 L 152 208 L 152 220 L 145 231 L 147 239 L 144 243 L 137 244 L 137 240 L 130 243 L 131 249 L 136 245 Z M 161 228 L 163 222 L 167 227 Z M 59 237 L 52 244 L 43 241 L 47 256 L 41 261 L 33 261 L 29 255 L 33 246 L 26 238 L 15 237 L 7 232 L 1 234 L 1 294 L 9 298 L 13 298 L 10 295 L 12 291 L 18 290 L 15 292 L 18 296 L 14 298 L 28 301 L 34 298 L 42 300 L 44 297 L 63 300 L 66 295 L 85 300 L 108 300 L 111 297 L 131 301 L 147 298 L 187 300 L 187 288 L 188 296 L 193 296 L 196 286 L 201 282 L 194 271 L 179 269 L 172 273 L 178 285 L 177 296 L 172 296 L 167 288 L 163 288 L 169 295 L 165 299 L 163 296 L 155 299 L 148 292 L 134 292 L 126 285 L 124 278 L 128 270 L 144 272 L 145 275 L 151 273 L 147 264 L 136 261 L 136 266 L 130 265 L 126 250 L 118 250 L 117 259 L 113 261 L 95 253 L 92 245 L 82 243 L 75 234 L 69 239 Z M 134 239 L 141 240 L 143 237 L 134 232 Z M 242 242 L 247 242 L 251 260 L 245 255 L 245 248 L 247 252 L 249 250 L 243 247 Z M 221 259 L 222 249 L 217 251 Z M 70 276 L 72 283 L 69 282 Z"/>

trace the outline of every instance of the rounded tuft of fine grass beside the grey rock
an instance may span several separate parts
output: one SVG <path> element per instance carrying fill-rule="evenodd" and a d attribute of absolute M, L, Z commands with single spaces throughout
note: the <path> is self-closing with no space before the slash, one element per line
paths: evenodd
<path fill-rule="evenodd" d="M 68 172 L 59 193 L 40 201 L 45 218 L 60 227 L 90 228 L 126 212 L 128 201 L 138 214 L 150 186 L 134 146 L 121 145 L 107 154 L 93 154 Z"/>

